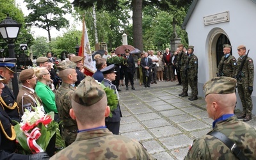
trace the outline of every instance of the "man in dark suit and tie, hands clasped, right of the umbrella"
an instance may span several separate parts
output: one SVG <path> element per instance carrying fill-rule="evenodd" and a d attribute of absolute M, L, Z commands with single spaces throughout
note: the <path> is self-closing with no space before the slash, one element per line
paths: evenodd
<path fill-rule="evenodd" d="M 144 52 L 144 58 L 141 59 L 140 66 L 142 68 L 143 84 L 145 87 L 150 87 L 153 63 L 148 58 L 148 52 Z"/>

